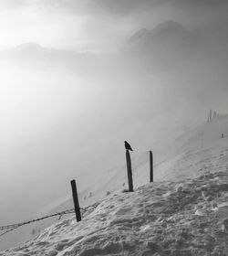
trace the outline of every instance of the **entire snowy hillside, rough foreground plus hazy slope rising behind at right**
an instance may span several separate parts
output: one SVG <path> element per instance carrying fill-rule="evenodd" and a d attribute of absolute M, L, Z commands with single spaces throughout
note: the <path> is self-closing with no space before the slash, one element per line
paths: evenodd
<path fill-rule="evenodd" d="M 221 134 L 224 138 L 221 138 Z M 228 255 L 228 116 L 178 138 L 175 155 L 134 192 L 113 192 L 0 256 Z"/>

